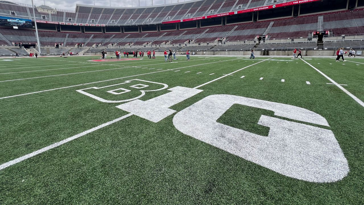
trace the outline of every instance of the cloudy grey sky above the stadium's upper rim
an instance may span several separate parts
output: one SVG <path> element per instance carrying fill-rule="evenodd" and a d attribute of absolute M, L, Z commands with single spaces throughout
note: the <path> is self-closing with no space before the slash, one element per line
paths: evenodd
<path fill-rule="evenodd" d="M 17 3 L 23 3 L 23 4 L 31 4 L 31 1 L 29 0 L 9 0 Z M 133 6 L 138 6 L 138 3 L 140 1 L 141 6 L 150 6 L 152 5 L 152 0 L 134 0 L 132 2 Z M 165 0 L 153 0 L 153 5 L 160 5 L 164 4 Z M 179 2 L 183 2 L 185 0 L 179 0 Z M 33 0 L 34 4 L 39 6 L 43 5 L 43 0 Z M 177 0 L 166 0 L 166 4 L 170 3 L 177 3 Z M 52 8 L 58 8 L 58 9 L 67 9 L 67 10 L 75 10 L 76 4 L 86 4 L 86 5 L 94 5 L 94 0 L 52 0 L 47 1 L 46 5 L 52 7 Z M 110 6 L 110 0 L 95 0 L 96 6 Z M 111 0 L 111 6 L 112 7 L 131 7 L 131 0 Z"/>

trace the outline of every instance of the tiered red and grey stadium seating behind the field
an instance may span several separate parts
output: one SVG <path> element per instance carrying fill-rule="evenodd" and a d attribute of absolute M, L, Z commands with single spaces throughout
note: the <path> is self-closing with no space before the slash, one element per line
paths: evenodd
<path fill-rule="evenodd" d="M 263 20 L 259 19 L 259 15 L 252 14 L 253 18 L 251 20 L 242 19 L 242 22 L 236 21 L 231 24 L 227 24 L 227 19 L 219 19 L 217 22 L 211 23 L 211 25 L 202 25 L 202 23 L 198 25 L 196 21 L 189 21 L 189 26 L 180 27 L 177 24 L 162 29 L 164 27 L 161 24 L 163 21 L 190 19 L 282 2 L 290 1 L 201 0 L 135 8 L 76 5 L 75 11 L 58 9 L 56 14 L 47 14 L 46 18 L 42 18 L 44 13 L 36 11 L 35 14 L 36 19 L 39 20 L 113 25 L 113 27 L 99 27 L 100 29 L 97 27 L 94 27 L 94 29 L 92 27 L 74 27 L 78 28 L 78 31 L 72 26 L 63 27 L 58 25 L 56 26 L 59 28 L 58 31 L 57 29 L 50 30 L 47 27 L 41 27 L 39 31 L 40 44 L 41 46 L 50 47 L 43 49 L 45 54 L 49 55 L 61 51 L 62 47 L 60 49 L 51 48 L 56 43 L 63 43 L 64 47 L 70 47 L 69 49 L 63 48 L 67 51 L 75 49 L 77 43 L 83 43 L 83 46 L 86 47 L 79 49 L 79 52 L 95 44 L 105 47 L 114 44 L 114 49 L 110 50 L 116 48 L 120 50 L 125 47 L 127 49 L 145 50 L 173 48 L 179 51 L 187 49 L 191 51 L 244 51 L 251 48 L 256 50 L 290 50 L 293 47 L 313 50 L 319 48 L 317 47 L 316 36 L 312 36 L 312 32 L 319 29 L 330 32 L 330 35 L 324 36 L 323 49 L 325 50 L 336 49 L 340 46 L 355 47 L 357 49 L 364 47 L 362 40 L 364 35 L 363 8 L 352 9 L 351 11 L 342 9 L 341 11 L 321 12 L 311 15 L 308 13 L 294 18 L 292 17 L 293 14 L 289 13 L 287 15 L 290 16 L 289 18 L 281 15 L 282 17 Z M 32 19 L 30 5 L 18 5 L 1 1 L 0 15 L 10 16 L 9 11 L 15 11 L 16 16 L 21 18 Z M 226 20 L 225 23 L 224 20 Z M 133 27 L 133 25 L 140 26 Z M 143 25 L 151 28 L 144 28 Z M 253 42 L 256 40 L 257 35 L 268 35 L 268 39 L 265 39 L 266 42 L 255 44 Z M 341 35 L 345 35 L 347 39 L 340 39 Z M 348 39 L 349 36 L 358 37 Z M 224 40 L 218 42 L 218 38 Z M 313 40 L 308 40 L 311 38 Z M 291 42 L 291 39 L 300 40 Z M 33 45 L 36 44 L 36 41 L 34 30 L 0 28 L 0 45 L 11 44 L 9 46 L 13 46 L 13 43 L 30 43 Z M 206 45 L 207 43 L 209 45 Z M 222 43 L 223 45 L 220 45 Z M 92 51 L 92 49 L 90 50 Z M 95 52 L 98 52 L 97 50 L 102 50 L 102 48 L 96 49 Z M 6 49 L 2 50 L 2 52 L 5 51 L 12 52 Z"/>

